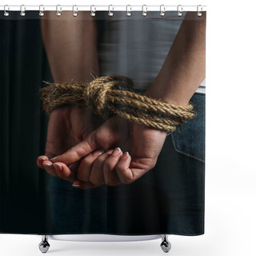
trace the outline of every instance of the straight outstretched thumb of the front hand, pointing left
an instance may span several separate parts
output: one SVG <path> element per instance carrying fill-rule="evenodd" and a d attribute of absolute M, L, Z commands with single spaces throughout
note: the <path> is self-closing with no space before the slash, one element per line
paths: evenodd
<path fill-rule="evenodd" d="M 96 150 L 94 146 L 95 143 L 92 141 L 94 140 L 94 134 L 90 134 L 90 137 L 86 140 L 78 143 L 78 145 L 73 146 L 70 150 L 67 150 L 64 154 L 60 154 L 55 158 L 51 158 L 51 162 L 63 162 L 67 166 L 73 162 L 80 160 L 81 158 L 85 157 L 87 154 L 90 154 L 92 151 Z"/>

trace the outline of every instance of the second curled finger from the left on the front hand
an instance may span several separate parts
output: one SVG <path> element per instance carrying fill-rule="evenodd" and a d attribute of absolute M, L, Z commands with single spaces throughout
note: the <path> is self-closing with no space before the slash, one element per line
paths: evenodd
<path fill-rule="evenodd" d="M 94 166 L 90 173 L 90 182 L 96 186 L 100 186 L 104 184 L 103 166 L 104 166 L 104 162 L 108 157 L 109 157 L 108 154 L 104 153 L 104 154 L 101 154 L 94 161 Z"/>

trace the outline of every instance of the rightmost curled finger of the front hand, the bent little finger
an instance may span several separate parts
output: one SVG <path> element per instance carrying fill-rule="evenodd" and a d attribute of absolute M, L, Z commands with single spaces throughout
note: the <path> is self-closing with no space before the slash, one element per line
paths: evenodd
<path fill-rule="evenodd" d="M 146 173 L 144 169 L 130 168 L 130 162 L 130 155 L 126 152 L 115 167 L 118 177 L 124 184 L 130 184 Z"/>

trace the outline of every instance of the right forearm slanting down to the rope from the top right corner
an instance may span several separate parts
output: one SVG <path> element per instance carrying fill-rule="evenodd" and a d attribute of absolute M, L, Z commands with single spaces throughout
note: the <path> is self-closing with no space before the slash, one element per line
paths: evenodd
<path fill-rule="evenodd" d="M 146 95 L 186 105 L 206 76 L 206 13 L 188 12 L 157 78 Z"/>

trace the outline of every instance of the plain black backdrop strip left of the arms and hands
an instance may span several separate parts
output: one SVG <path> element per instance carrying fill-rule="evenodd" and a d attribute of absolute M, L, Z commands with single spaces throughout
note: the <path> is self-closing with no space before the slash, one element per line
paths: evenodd
<path fill-rule="evenodd" d="M 40 20 L 31 20 L 33 12 L 30 19 L 18 15 L 0 12 L 0 231 L 36 234 L 46 227 L 46 174 L 36 158 L 43 154 L 47 118 L 38 94 L 50 70 Z"/>

